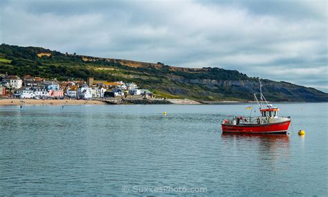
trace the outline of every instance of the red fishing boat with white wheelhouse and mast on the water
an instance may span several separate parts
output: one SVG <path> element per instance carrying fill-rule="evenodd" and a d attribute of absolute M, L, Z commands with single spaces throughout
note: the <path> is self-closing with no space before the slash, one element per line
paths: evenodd
<path fill-rule="evenodd" d="M 223 120 L 222 131 L 230 133 L 287 133 L 291 117 L 279 117 L 280 109 L 268 104 L 262 94 L 262 84 L 259 81 L 259 100 L 254 94 L 255 101 L 259 105 L 261 115 L 256 117 L 234 117 L 231 120 Z M 266 107 L 264 107 L 266 106 Z M 252 108 L 253 109 L 253 108 Z"/>

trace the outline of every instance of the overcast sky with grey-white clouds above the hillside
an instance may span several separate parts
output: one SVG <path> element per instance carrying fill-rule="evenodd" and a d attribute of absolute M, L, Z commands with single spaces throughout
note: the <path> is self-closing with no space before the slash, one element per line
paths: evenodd
<path fill-rule="evenodd" d="M 0 1 L 0 42 L 328 91 L 327 1 Z"/>

